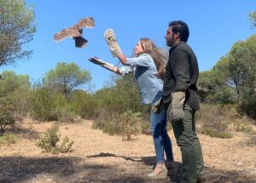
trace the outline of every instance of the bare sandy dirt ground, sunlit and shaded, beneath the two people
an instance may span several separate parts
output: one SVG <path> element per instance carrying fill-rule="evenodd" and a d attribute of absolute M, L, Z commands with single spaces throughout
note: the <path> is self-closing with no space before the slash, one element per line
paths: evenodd
<path fill-rule="evenodd" d="M 35 144 L 52 123 L 26 120 L 21 125 L 17 143 L 0 146 L 0 182 L 177 182 L 180 171 L 169 177 L 149 180 L 146 174 L 154 165 L 151 136 L 133 136 L 124 141 L 119 136 L 91 129 L 92 122 L 62 123 L 61 137 L 74 141 L 73 152 L 52 155 L 42 153 Z M 177 168 L 181 156 L 172 131 Z M 256 138 L 236 133 L 231 139 L 217 139 L 199 134 L 206 165 L 207 182 L 256 182 Z M 253 143 L 251 143 L 253 142 Z M 254 145 L 252 145 L 254 144 Z"/>

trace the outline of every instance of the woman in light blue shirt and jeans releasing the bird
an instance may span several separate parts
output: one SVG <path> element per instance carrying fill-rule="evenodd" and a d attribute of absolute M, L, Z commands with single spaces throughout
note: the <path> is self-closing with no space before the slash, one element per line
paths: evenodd
<path fill-rule="evenodd" d="M 107 30 L 108 31 L 108 30 Z M 160 100 L 162 95 L 162 78 L 165 75 L 164 56 L 160 53 L 154 43 L 148 38 L 141 38 L 135 48 L 136 57 L 126 58 L 125 54 L 119 49 L 116 42 L 113 30 L 110 30 L 111 38 L 114 37 L 114 46 L 117 49 L 111 48 L 113 43 L 108 43 L 108 35 L 104 34 L 106 41 L 113 56 L 117 56 L 125 67 L 117 68 L 108 62 L 99 60 L 98 58 L 90 58 L 90 61 L 107 68 L 110 71 L 125 75 L 134 71 L 134 76 L 137 80 L 137 86 L 142 96 L 143 105 L 154 104 Z M 109 32 L 108 32 L 109 33 Z M 155 109 L 152 107 L 152 109 Z M 154 149 L 156 153 L 156 166 L 154 171 L 148 174 L 150 178 L 166 177 L 167 169 L 165 166 L 164 152 L 166 152 L 166 161 L 168 164 L 173 163 L 172 142 L 166 130 L 166 112 L 164 110 L 152 110 L 150 112 L 150 133 L 154 139 Z"/>

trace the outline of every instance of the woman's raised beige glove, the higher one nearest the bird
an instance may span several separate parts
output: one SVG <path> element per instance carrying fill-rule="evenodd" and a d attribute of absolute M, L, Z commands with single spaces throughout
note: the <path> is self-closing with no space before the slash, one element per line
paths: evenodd
<path fill-rule="evenodd" d="M 122 50 L 119 47 L 119 43 L 117 43 L 117 39 L 115 37 L 113 29 L 107 29 L 104 32 L 104 37 L 106 42 L 108 43 L 108 47 L 113 57 L 118 57 L 119 54 L 123 54 Z"/>

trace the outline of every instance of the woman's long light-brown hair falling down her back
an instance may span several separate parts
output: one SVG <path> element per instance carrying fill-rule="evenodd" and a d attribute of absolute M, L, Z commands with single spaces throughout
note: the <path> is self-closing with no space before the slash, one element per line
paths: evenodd
<path fill-rule="evenodd" d="M 167 61 L 163 49 L 158 49 L 149 38 L 141 38 L 140 43 L 143 47 L 143 54 L 149 54 L 153 58 L 158 76 L 163 80 L 166 75 L 165 66 Z"/>

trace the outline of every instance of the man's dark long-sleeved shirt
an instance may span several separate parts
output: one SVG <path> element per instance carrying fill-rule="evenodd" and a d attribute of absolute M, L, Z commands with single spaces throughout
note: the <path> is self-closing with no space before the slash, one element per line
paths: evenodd
<path fill-rule="evenodd" d="M 193 50 L 187 43 L 180 42 L 169 51 L 166 64 L 162 101 L 167 107 L 171 102 L 171 93 L 186 92 L 185 104 L 199 109 L 199 97 L 196 83 L 199 76 L 198 63 Z"/>

